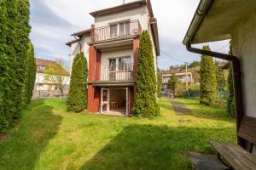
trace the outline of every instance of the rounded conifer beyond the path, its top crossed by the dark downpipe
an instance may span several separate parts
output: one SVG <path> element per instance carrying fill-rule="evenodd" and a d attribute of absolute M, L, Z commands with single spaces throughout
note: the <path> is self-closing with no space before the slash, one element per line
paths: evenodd
<path fill-rule="evenodd" d="M 211 50 L 209 46 L 203 46 L 204 50 Z M 201 56 L 200 70 L 200 102 L 205 105 L 212 105 L 216 99 L 216 70 L 212 57 Z"/>

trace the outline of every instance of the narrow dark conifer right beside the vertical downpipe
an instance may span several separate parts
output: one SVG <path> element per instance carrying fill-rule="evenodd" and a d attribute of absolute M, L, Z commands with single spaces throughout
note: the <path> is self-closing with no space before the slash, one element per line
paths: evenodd
<path fill-rule="evenodd" d="M 232 54 L 232 42 L 230 41 L 230 52 Z M 227 98 L 227 112 L 230 115 L 235 116 L 235 99 L 234 99 L 234 88 L 233 88 L 233 72 L 232 64 L 230 63 L 229 77 L 228 77 L 228 98 Z"/>

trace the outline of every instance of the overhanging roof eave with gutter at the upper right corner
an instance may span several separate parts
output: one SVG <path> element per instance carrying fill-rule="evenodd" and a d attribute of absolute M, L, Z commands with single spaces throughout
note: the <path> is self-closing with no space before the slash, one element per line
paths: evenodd
<path fill-rule="evenodd" d="M 201 0 L 183 44 L 230 39 L 236 26 L 255 10 L 252 0 Z"/>

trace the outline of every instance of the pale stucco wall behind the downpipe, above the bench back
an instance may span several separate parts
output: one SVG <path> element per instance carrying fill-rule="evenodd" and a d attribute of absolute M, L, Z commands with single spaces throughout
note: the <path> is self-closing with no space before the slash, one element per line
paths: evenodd
<path fill-rule="evenodd" d="M 240 23 L 232 33 L 233 53 L 241 59 L 244 109 L 256 117 L 256 14 Z"/>

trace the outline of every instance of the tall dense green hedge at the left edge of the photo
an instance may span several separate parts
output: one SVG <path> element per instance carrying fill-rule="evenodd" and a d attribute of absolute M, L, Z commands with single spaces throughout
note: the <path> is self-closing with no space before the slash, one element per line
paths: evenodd
<path fill-rule="evenodd" d="M 28 101 L 29 1 L 0 1 L 0 133 L 19 118 Z M 31 88 L 29 88 L 31 90 Z"/>

